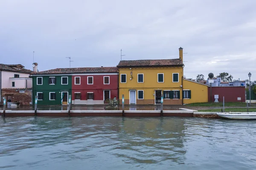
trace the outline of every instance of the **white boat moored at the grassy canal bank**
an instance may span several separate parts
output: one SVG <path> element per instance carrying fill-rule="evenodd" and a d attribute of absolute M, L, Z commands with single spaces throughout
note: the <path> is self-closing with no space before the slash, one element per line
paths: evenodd
<path fill-rule="evenodd" d="M 256 119 L 256 112 L 229 112 L 229 113 L 217 113 L 218 116 L 221 116 L 226 119 Z"/>

